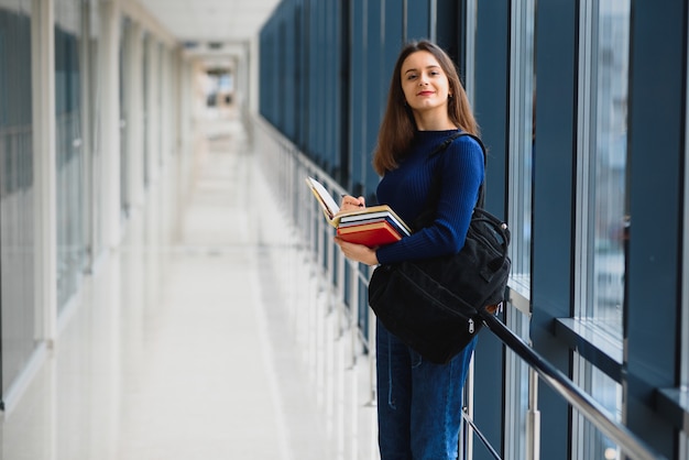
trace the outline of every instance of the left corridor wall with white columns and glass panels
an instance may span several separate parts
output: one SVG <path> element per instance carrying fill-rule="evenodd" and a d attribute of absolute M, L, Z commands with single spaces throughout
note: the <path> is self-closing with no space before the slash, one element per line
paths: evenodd
<path fill-rule="evenodd" d="M 0 409 L 21 397 L 161 172 L 185 167 L 188 73 L 136 2 L 0 6 Z"/>

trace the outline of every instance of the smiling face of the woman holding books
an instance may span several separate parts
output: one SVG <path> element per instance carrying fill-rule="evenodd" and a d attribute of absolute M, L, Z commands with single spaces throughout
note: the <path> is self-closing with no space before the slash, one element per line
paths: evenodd
<path fill-rule="evenodd" d="M 402 91 L 417 113 L 442 110 L 447 113 L 449 81 L 433 54 L 417 51 L 402 63 Z"/>

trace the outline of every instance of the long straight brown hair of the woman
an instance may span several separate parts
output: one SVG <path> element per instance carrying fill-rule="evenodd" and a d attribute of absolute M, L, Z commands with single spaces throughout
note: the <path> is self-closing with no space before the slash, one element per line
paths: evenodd
<path fill-rule="evenodd" d="M 462 86 L 455 63 L 438 45 L 428 42 L 411 42 L 400 52 L 395 69 L 390 81 L 390 92 L 387 95 L 387 107 L 378 133 L 378 145 L 373 152 L 373 168 L 380 175 L 386 171 L 397 167 L 397 162 L 409 149 L 414 139 L 416 124 L 412 114 L 412 109 L 405 106 L 404 92 L 402 90 L 402 64 L 413 53 L 426 51 L 434 55 L 449 83 L 449 94 L 453 95 L 448 99 L 448 117 L 457 128 L 471 134 L 479 134 L 479 127 L 467 91 Z"/>

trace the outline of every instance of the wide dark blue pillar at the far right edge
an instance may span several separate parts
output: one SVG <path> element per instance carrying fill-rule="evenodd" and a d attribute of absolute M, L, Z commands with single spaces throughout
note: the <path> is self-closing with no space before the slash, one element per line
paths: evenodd
<path fill-rule="evenodd" d="M 667 458 L 678 458 L 677 430 L 655 410 L 654 399 L 657 388 L 682 384 L 687 8 L 683 0 L 633 2 L 631 23 L 625 397 L 630 427 Z"/>

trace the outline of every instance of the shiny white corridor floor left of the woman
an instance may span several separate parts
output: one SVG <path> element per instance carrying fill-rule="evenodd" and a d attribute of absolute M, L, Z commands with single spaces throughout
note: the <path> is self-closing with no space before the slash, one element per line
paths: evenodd
<path fill-rule="evenodd" d="M 61 317 L 2 459 L 376 458 L 370 366 L 275 231 L 243 132 L 210 125 L 182 211 L 164 174 Z"/>

